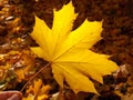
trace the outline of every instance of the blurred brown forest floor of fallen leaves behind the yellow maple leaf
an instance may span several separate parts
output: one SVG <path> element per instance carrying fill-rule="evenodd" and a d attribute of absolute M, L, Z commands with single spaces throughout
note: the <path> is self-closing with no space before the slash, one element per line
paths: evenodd
<path fill-rule="evenodd" d="M 73 30 L 86 18 L 90 21 L 103 20 L 103 39 L 92 50 L 110 54 L 111 60 L 120 66 L 115 78 L 113 74 L 105 76 L 104 86 L 98 87 L 101 96 L 88 93 L 85 100 L 133 100 L 133 0 L 72 1 L 79 13 Z M 21 90 L 31 76 L 47 63 L 29 50 L 29 47 L 37 46 L 29 36 L 34 24 L 34 14 L 51 28 L 53 9 L 60 10 L 68 2 L 69 0 L 0 0 L 0 90 Z M 59 91 L 50 68 L 38 78 L 52 87 L 49 94 Z M 75 100 L 71 99 L 71 91 L 66 92 L 65 100 Z M 84 97 L 82 93 L 79 96 Z"/>

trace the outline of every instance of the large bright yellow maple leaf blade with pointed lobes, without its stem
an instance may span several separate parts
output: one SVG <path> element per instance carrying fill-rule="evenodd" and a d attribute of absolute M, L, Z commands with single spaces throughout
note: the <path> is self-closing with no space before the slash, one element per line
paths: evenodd
<path fill-rule="evenodd" d="M 72 2 L 53 12 L 52 29 L 35 17 L 31 37 L 40 47 L 31 50 L 51 63 L 54 79 L 62 88 L 63 81 L 66 81 L 75 93 L 98 93 L 89 78 L 102 83 L 104 74 L 117 69 L 115 62 L 108 59 L 109 56 L 89 50 L 101 39 L 102 22 L 85 20 L 72 31 L 73 21 L 78 16 Z"/>

